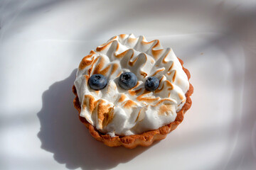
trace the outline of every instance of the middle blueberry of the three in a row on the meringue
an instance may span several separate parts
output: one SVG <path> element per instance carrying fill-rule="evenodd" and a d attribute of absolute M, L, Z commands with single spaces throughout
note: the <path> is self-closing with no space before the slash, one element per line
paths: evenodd
<path fill-rule="evenodd" d="M 132 89 L 137 84 L 137 77 L 132 72 L 124 72 L 119 76 L 118 84 L 122 89 Z"/>

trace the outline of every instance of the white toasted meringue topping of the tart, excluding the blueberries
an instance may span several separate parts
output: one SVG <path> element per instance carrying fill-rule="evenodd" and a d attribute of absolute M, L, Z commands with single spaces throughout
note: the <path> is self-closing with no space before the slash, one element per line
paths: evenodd
<path fill-rule="evenodd" d="M 137 86 L 124 90 L 118 85 L 122 72 L 133 72 Z M 90 89 L 92 74 L 107 77 L 105 89 Z M 155 91 L 146 91 L 146 77 L 156 77 Z M 173 122 L 186 101 L 188 77 L 171 48 L 159 40 L 121 34 L 85 56 L 78 67 L 75 88 L 81 105 L 80 116 L 97 130 L 112 135 L 134 135 Z"/>

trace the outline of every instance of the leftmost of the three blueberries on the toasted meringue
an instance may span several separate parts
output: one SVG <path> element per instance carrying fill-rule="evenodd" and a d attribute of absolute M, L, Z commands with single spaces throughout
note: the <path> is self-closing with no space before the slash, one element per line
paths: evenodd
<path fill-rule="evenodd" d="M 107 79 L 102 74 L 93 74 L 90 77 L 88 84 L 90 88 L 94 90 L 101 90 L 104 89 L 105 86 L 107 86 Z"/>

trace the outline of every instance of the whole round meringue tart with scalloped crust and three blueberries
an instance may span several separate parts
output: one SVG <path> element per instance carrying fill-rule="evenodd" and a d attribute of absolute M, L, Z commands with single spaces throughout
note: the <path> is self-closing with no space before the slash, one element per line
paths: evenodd
<path fill-rule="evenodd" d="M 149 146 L 176 129 L 191 107 L 188 79 L 171 48 L 122 34 L 82 59 L 74 106 L 92 137 L 105 145 Z"/>

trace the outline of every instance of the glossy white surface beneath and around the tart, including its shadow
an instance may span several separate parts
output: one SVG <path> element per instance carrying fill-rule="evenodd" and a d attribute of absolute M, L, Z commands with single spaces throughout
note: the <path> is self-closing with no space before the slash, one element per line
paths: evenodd
<path fill-rule="evenodd" d="M 0 169 L 256 169 L 256 1 L 0 1 Z M 195 91 L 151 147 L 110 148 L 73 108 L 75 68 L 113 35 L 172 47 Z"/>

